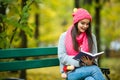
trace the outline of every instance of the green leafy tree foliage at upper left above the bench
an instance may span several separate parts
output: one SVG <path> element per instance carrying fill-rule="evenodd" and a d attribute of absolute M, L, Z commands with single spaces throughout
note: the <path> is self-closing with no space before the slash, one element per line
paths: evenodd
<path fill-rule="evenodd" d="M 2 13 L 0 13 L 0 17 L 2 20 L 2 22 L 0 22 L 0 26 L 2 30 L 2 33 L 0 34 L 1 48 L 18 47 L 18 46 L 15 46 L 15 44 L 16 44 L 16 41 L 18 40 L 20 41 L 20 37 L 18 35 L 19 30 L 25 31 L 27 35 L 31 35 L 32 33 L 31 29 L 27 25 L 27 19 L 29 17 L 28 10 L 29 10 L 29 6 L 31 5 L 30 4 L 31 0 L 27 1 L 27 5 L 24 7 L 24 9 L 22 9 L 22 11 L 20 10 L 21 9 L 20 1 L 21 0 L 13 0 L 13 1 L 1 0 L 0 1 L 0 3 L 3 3 L 3 7 L 6 6 L 6 10 L 3 10 L 4 8 L 1 8 L 2 10 L 0 10 L 0 11 L 3 11 L 4 14 L 6 14 L 6 15 L 3 15 Z M 15 35 L 18 35 L 18 36 L 15 36 Z"/>

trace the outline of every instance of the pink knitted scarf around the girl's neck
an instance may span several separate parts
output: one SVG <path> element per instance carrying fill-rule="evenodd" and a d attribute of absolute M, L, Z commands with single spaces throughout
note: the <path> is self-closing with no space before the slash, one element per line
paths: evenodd
<path fill-rule="evenodd" d="M 75 51 L 74 48 L 73 48 L 72 37 L 71 37 L 72 28 L 73 27 L 70 27 L 68 29 L 68 31 L 66 33 L 66 38 L 65 38 L 66 51 L 67 51 L 67 54 L 70 55 L 70 56 L 74 56 L 74 55 L 79 53 L 79 52 Z M 76 40 L 78 42 L 78 45 L 79 45 L 80 49 L 82 49 L 83 51 L 86 51 L 86 52 L 89 51 L 88 39 L 87 39 L 86 32 L 83 32 L 79 36 L 77 36 Z"/>

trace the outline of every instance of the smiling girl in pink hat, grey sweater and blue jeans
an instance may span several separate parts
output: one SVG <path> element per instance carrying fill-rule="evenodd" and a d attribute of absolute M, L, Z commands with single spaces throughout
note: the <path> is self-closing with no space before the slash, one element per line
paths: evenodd
<path fill-rule="evenodd" d="M 58 58 L 60 61 L 61 73 L 64 73 L 64 65 L 73 65 L 74 70 L 67 72 L 67 80 L 105 80 L 97 62 L 83 56 L 81 61 L 73 57 L 81 49 L 92 54 L 97 53 L 95 35 L 91 32 L 92 17 L 83 9 L 75 9 L 73 12 L 73 24 L 61 34 L 58 43 Z"/>

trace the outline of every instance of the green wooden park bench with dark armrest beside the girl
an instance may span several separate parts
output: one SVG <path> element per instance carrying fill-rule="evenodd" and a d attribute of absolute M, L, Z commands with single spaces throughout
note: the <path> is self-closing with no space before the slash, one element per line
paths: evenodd
<path fill-rule="evenodd" d="M 53 55 L 55 56 L 52 57 Z M 34 58 L 30 58 L 30 57 L 34 57 Z M 26 58 L 26 59 L 16 60 L 16 58 Z M 13 59 L 13 60 L 6 61 L 5 59 Z M 14 48 L 14 49 L 0 50 L 0 72 L 52 67 L 52 66 L 59 66 L 59 60 L 57 58 L 57 47 Z M 108 74 L 110 74 L 109 69 L 101 68 L 101 70 L 103 74 L 106 75 L 108 80 L 110 80 L 108 76 Z"/>

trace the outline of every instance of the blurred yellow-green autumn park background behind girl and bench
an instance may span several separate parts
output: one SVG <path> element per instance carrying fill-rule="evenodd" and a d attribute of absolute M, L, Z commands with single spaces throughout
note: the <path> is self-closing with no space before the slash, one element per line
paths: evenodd
<path fill-rule="evenodd" d="M 111 80 L 120 80 L 120 0 L 0 0 L 0 49 L 57 46 L 60 34 L 72 25 L 75 7 L 91 13 L 92 32 L 99 36 L 99 51 L 105 51 L 100 67 L 110 68 Z M 19 73 L 0 72 L 0 78 Z M 27 70 L 27 79 L 62 80 L 59 66 Z"/>

